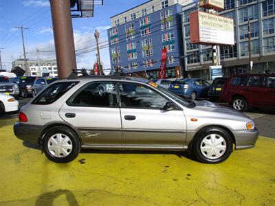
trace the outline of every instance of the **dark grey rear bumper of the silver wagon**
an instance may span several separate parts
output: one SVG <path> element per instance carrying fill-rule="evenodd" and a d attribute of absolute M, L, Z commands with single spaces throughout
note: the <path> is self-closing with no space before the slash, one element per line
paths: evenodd
<path fill-rule="evenodd" d="M 14 134 L 18 139 L 33 144 L 39 143 L 39 138 L 41 137 L 44 128 L 45 126 L 21 124 L 21 122 L 16 122 L 13 126 Z"/>

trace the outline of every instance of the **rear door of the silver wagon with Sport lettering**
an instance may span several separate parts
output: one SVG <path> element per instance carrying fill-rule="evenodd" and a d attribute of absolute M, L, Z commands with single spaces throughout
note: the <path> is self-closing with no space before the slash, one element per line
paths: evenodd
<path fill-rule="evenodd" d="M 78 129 L 84 145 L 121 146 L 120 108 L 113 82 L 90 82 L 62 106 L 61 117 Z"/>

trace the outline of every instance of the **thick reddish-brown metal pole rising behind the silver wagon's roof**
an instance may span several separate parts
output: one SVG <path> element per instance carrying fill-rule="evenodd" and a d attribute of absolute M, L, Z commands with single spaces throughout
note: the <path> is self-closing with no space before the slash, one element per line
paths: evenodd
<path fill-rule="evenodd" d="M 67 78 L 76 67 L 76 52 L 69 0 L 50 0 L 58 78 Z"/>

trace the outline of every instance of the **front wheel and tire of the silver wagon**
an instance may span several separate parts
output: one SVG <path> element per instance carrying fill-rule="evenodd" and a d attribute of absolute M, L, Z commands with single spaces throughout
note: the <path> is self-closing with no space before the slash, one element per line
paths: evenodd
<path fill-rule="evenodd" d="M 199 131 L 192 143 L 192 155 L 202 163 L 221 163 L 232 152 L 231 135 L 219 127 L 208 127 Z"/>

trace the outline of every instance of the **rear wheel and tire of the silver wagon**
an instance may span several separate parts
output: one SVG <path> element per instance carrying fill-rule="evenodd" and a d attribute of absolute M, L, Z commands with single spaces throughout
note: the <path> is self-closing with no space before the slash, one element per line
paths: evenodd
<path fill-rule="evenodd" d="M 73 161 L 78 157 L 80 149 L 78 136 L 74 130 L 65 126 L 51 128 L 43 139 L 43 150 L 47 159 L 56 163 Z"/>

